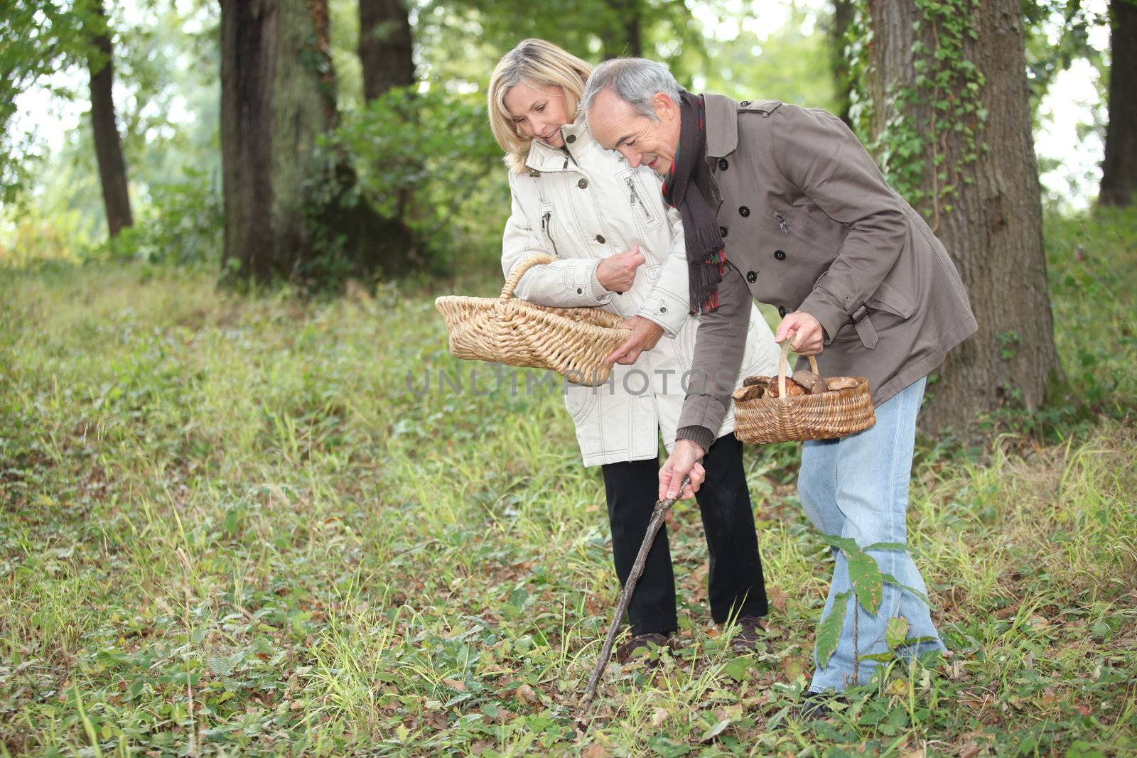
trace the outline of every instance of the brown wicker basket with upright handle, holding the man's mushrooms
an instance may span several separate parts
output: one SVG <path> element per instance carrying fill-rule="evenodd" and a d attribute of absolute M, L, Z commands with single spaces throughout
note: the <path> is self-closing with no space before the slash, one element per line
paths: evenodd
<path fill-rule="evenodd" d="M 735 403 L 735 436 L 742 442 L 832 440 L 872 426 L 877 416 L 869 397 L 869 380 L 854 377 L 856 386 L 819 394 L 786 397 L 789 343 L 782 342 L 778 359 L 777 398 L 755 398 Z M 819 376 L 818 361 L 810 368 Z"/>

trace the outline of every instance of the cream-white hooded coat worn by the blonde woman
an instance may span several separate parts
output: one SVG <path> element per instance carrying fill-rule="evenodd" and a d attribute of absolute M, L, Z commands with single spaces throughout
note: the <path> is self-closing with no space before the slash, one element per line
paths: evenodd
<path fill-rule="evenodd" d="M 533 141 L 528 174 L 509 174 L 513 213 L 501 244 L 501 269 L 537 253 L 556 261 L 534 266 L 516 295 L 545 306 L 603 308 L 630 318 L 642 316 L 664 330 L 658 344 L 631 366 L 615 365 L 599 386 L 566 384 L 565 407 L 576 426 L 586 466 L 658 456 L 658 435 L 670 452 L 686 397 L 698 317 L 689 314 L 687 257 L 679 211 L 669 208 L 649 168 L 632 168 L 603 149 L 583 118 L 562 127 L 563 149 Z M 639 245 L 647 261 L 631 290 L 605 290 L 596 267 L 608 256 Z M 778 345 L 752 306 L 742 377 L 773 374 Z M 735 428 L 728 413 L 719 430 Z"/>

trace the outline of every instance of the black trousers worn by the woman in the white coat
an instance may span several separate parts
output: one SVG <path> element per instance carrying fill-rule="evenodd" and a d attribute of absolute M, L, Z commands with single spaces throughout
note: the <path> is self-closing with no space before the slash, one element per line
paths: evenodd
<path fill-rule="evenodd" d="M 719 438 L 704 456 L 703 467 L 706 482 L 695 499 L 699 503 L 711 553 L 707 591 L 711 616 L 716 624 L 732 616 L 765 616 L 766 588 L 742 469 L 742 443 L 733 434 Z M 612 552 L 623 586 L 652 520 L 659 492 L 659 461 L 630 460 L 605 464 L 601 468 L 612 525 Z M 679 628 L 666 524 L 656 535 L 644 574 L 636 583 L 628 606 L 628 620 L 632 634 L 670 634 Z"/>

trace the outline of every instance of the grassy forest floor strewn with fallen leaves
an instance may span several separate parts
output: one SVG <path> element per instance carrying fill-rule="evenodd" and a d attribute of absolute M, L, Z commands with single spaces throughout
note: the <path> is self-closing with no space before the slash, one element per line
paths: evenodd
<path fill-rule="evenodd" d="M 980 456 L 924 443 L 913 476 L 952 657 L 798 720 L 828 548 L 792 445 L 750 448 L 766 651 L 725 651 L 680 505 L 682 649 L 613 665 L 582 739 L 617 588 L 603 483 L 559 398 L 523 391 L 539 374 L 514 395 L 451 359 L 424 291 L 0 272 L 0 755 L 1135 755 L 1137 222 L 1052 219 L 1047 243 L 1078 394 L 1019 418 L 1035 438 L 995 419 L 1016 435 Z"/>

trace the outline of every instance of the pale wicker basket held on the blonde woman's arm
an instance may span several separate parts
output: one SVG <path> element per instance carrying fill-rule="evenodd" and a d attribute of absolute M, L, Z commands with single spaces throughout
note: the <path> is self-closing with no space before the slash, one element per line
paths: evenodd
<path fill-rule="evenodd" d="M 549 308 L 513 297 L 521 276 L 549 256 L 534 256 L 511 273 L 498 298 L 447 295 L 434 300 L 450 333 L 450 355 L 508 366 L 549 368 L 570 382 L 594 386 L 612 374 L 604 357 L 631 332 L 599 308 Z"/>

